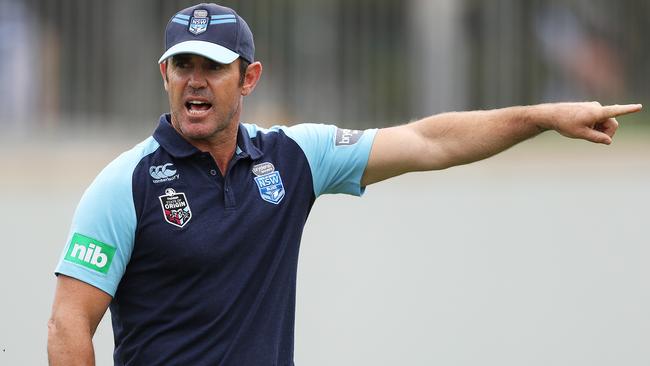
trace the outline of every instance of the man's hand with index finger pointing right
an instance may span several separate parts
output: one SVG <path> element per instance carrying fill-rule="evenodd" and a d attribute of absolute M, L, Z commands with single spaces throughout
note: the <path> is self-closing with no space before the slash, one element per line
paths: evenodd
<path fill-rule="evenodd" d="M 598 102 L 558 103 L 541 105 L 550 108 L 543 128 L 587 141 L 611 144 L 618 129 L 616 117 L 641 110 L 641 104 L 606 105 Z"/>

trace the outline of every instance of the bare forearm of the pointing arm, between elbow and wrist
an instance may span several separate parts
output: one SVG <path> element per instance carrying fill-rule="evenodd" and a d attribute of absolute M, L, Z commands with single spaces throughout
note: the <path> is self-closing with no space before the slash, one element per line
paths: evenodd
<path fill-rule="evenodd" d="M 430 156 L 418 170 L 444 169 L 498 154 L 551 128 L 545 105 L 451 112 L 413 123 Z"/>

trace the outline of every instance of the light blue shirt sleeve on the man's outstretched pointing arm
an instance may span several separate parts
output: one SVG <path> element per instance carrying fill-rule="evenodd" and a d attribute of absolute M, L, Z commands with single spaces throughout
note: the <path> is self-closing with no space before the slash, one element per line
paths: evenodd
<path fill-rule="evenodd" d="M 304 123 L 283 131 L 305 153 L 316 197 L 326 193 L 361 196 L 361 177 L 368 165 L 376 129 L 365 131 Z"/>

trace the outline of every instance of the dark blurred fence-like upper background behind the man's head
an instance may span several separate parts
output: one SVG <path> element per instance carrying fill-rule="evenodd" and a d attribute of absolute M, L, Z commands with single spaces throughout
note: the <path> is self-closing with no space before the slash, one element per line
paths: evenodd
<path fill-rule="evenodd" d="M 3 135 L 148 131 L 167 110 L 156 60 L 191 1 L 0 0 Z M 264 125 L 350 127 L 558 100 L 650 95 L 650 2 L 248 0 Z M 97 133 L 97 132 L 95 132 Z"/>

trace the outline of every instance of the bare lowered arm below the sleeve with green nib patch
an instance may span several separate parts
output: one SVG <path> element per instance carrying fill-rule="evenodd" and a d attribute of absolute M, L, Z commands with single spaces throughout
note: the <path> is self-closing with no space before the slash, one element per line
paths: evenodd
<path fill-rule="evenodd" d="M 65 275 L 57 277 L 48 322 L 50 366 L 94 365 L 92 337 L 111 302 L 106 292 Z"/>

